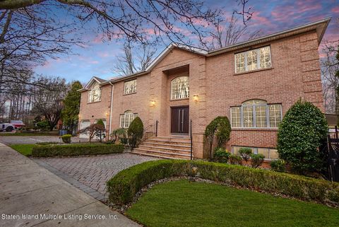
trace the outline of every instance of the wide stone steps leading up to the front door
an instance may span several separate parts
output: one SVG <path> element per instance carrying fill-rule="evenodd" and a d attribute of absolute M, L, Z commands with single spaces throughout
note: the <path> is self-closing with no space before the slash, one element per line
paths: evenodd
<path fill-rule="evenodd" d="M 157 136 L 143 141 L 131 153 L 169 159 L 191 159 L 189 136 Z"/>

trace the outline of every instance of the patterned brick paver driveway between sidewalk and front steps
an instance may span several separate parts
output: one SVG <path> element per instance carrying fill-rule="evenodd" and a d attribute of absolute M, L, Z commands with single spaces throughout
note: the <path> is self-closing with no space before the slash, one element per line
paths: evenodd
<path fill-rule="evenodd" d="M 108 196 L 107 180 L 132 165 L 156 159 L 133 153 L 117 153 L 73 158 L 35 158 L 33 160 L 72 185 L 105 202 Z"/>

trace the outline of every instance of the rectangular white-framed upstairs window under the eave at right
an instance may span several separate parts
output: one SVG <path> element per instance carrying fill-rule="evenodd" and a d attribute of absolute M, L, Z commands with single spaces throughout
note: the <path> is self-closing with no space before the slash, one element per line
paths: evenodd
<path fill-rule="evenodd" d="M 235 54 L 234 61 L 236 73 L 270 68 L 270 46 Z"/>

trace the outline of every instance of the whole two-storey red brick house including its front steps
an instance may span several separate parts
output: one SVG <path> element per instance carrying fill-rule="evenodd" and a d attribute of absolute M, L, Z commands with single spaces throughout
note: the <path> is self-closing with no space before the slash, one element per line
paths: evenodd
<path fill-rule="evenodd" d="M 157 137 L 133 152 L 189 158 L 192 145 L 194 158 L 206 158 L 206 125 L 227 116 L 229 151 L 249 147 L 278 158 L 278 124 L 291 105 L 302 98 L 324 111 L 318 47 L 329 21 L 209 52 L 172 44 L 145 71 L 93 77 L 81 89 L 80 126 L 102 119 L 109 135 L 138 116 L 156 127 Z"/>

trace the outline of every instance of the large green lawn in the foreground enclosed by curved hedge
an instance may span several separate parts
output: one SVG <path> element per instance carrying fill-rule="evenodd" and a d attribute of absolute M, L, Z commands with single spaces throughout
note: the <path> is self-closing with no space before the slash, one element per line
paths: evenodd
<path fill-rule="evenodd" d="M 155 185 L 126 211 L 149 227 L 338 226 L 339 209 L 204 182 Z"/>

